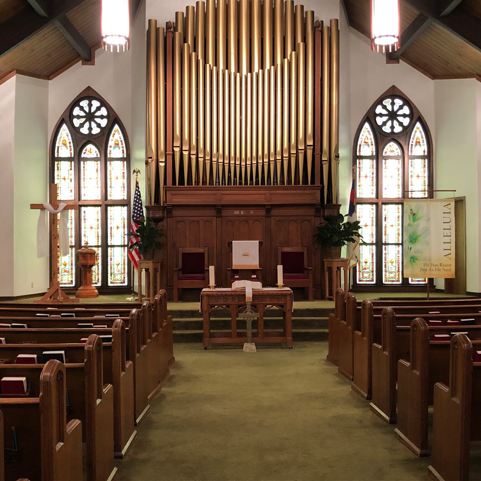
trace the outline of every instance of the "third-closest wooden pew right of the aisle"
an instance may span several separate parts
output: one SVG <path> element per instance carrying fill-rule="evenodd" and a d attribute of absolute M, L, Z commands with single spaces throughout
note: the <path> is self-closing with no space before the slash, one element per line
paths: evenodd
<path fill-rule="evenodd" d="M 466 315 L 435 314 L 430 319 L 447 321 L 456 320 Z M 471 314 L 478 324 L 476 326 L 434 326 L 432 334 L 446 334 L 456 331 L 472 332 L 474 337 L 481 336 L 481 314 Z M 376 316 L 375 316 L 376 318 Z M 410 324 L 412 316 L 396 316 L 392 308 L 382 311 L 380 339 L 372 344 L 372 402 L 371 410 L 389 423 L 397 422 L 396 414 L 396 380 L 397 361 L 409 358 Z"/>

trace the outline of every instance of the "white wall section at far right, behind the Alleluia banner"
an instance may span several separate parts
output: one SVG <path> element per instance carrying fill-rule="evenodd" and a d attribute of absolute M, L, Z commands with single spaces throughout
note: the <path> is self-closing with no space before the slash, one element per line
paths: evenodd
<path fill-rule="evenodd" d="M 480 292 L 481 84 L 475 79 L 433 83 L 435 188 L 456 189 L 456 197 L 466 197 L 467 290 Z M 443 279 L 436 285 L 442 287 Z"/>

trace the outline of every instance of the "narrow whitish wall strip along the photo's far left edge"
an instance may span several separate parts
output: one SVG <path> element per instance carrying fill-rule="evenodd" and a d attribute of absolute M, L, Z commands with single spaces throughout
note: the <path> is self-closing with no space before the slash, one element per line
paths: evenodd
<path fill-rule="evenodd" d="M 13 296 L 13 165 L 15 77 L 0 85 L 0 296 Z"/>

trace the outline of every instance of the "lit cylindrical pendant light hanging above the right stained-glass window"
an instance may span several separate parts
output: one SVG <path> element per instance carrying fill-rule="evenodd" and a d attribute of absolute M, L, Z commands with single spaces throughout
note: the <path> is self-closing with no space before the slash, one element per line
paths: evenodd
<path fill-rule="evenodd" d="M 371 48 L 384 53 L 396 51 L 401 44 L 399 0 L 371 0 Z"/>

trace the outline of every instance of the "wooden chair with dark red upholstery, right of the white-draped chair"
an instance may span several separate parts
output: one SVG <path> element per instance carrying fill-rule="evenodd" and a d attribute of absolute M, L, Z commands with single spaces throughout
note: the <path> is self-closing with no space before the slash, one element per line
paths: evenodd
<path fill-rule="evenodd" d="M 313 300 L 312 267 L 307 267 L 307 247 L 278 246 L 278 265 L 286 287 L 304 287 L 309 301 Z"/>

